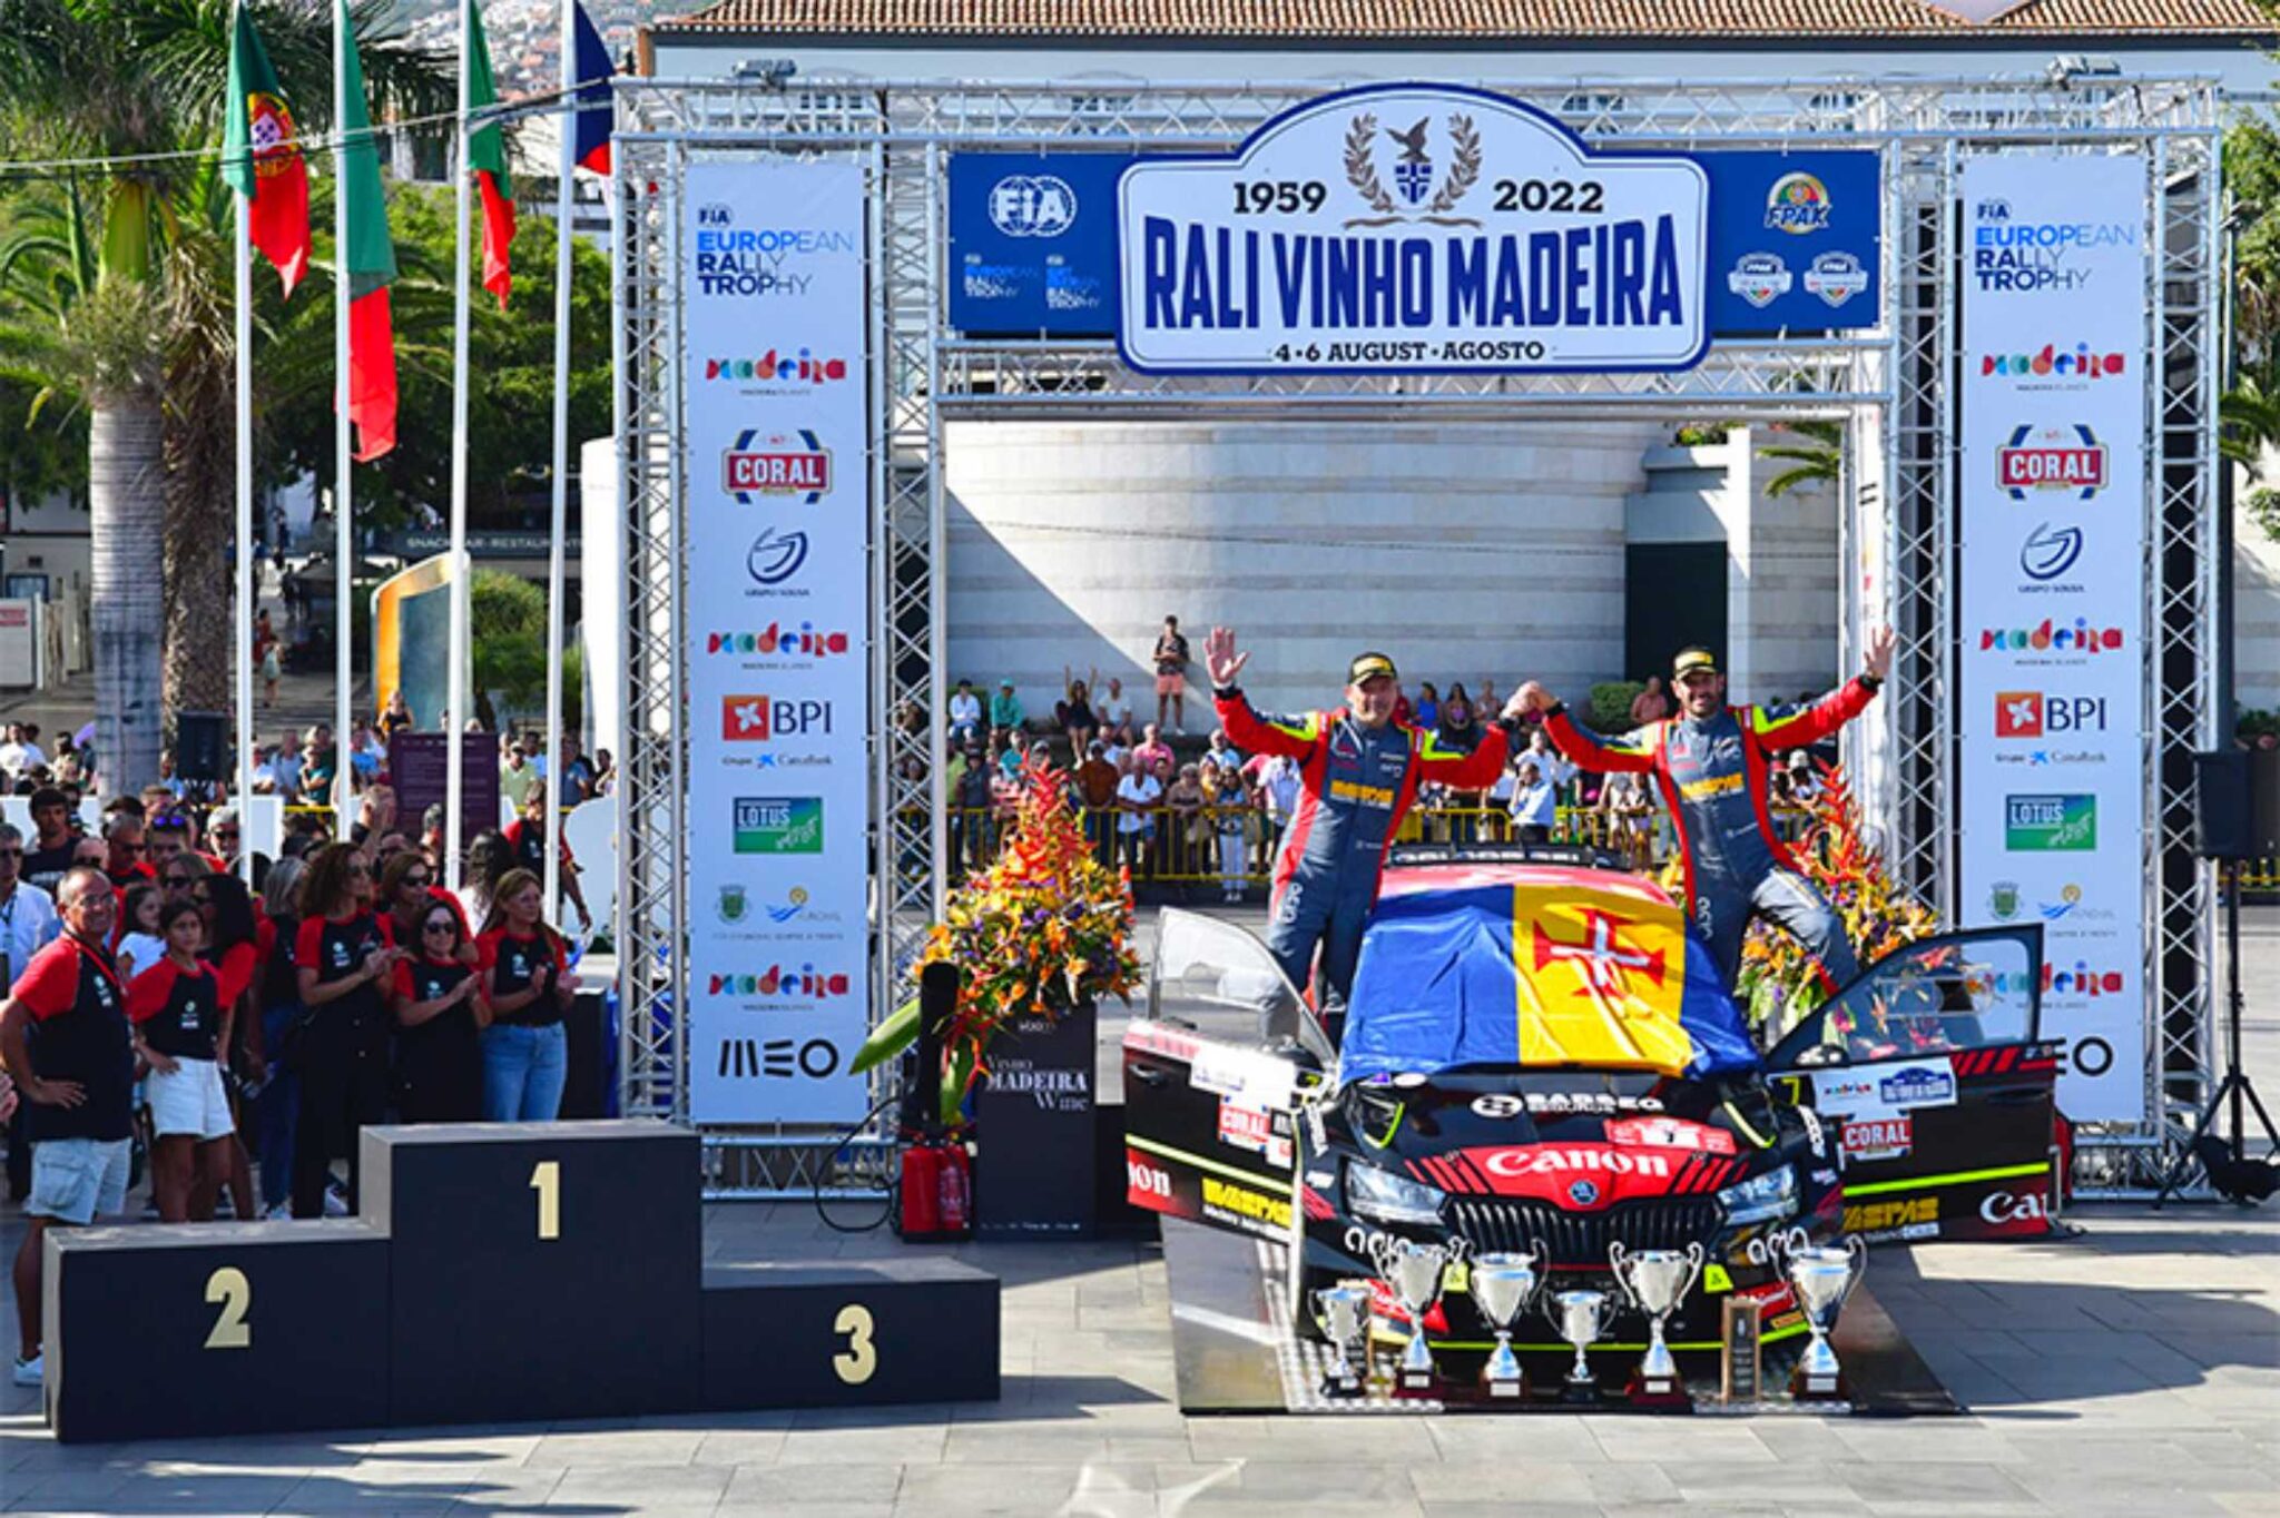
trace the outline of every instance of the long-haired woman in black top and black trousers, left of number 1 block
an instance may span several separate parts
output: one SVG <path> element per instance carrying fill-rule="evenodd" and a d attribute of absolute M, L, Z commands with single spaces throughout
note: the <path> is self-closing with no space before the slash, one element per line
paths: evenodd
<path fill-rule="evenodd" d="M 294 978 L 306 1007 L 299 1039 L 301 1121 L 294 1126 L 292 1215 L 324 1217 L 333 1156 L 349 1158 L 356 1210 L 358 1133 L 388 1117 L 383 987 L 404 950 L 372 916 L 372 866 L 353 843 L 326 843 L 301 878 Z"/>

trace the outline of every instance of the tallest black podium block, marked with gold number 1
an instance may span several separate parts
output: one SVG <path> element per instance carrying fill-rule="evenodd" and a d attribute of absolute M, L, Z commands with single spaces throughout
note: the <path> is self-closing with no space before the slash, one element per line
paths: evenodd
<path fill-rule="evenodd" d="M 392 1422 L 695 1406 L 698 1185 L 695 1133 L 659 1121 L 365 1128 Z"/>

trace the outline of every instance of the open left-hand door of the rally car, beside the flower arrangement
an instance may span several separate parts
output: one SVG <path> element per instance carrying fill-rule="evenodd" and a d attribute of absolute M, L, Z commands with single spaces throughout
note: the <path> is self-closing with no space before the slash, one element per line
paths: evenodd
<path fill-rule="evenodd" d="M 1334 1062 L 1265 944 L 1156 919 L 1147 1014 L 1124 1033 L 1124 1190 L 1135 1208 L 1290 1238 L 1297 1094 Z"/>

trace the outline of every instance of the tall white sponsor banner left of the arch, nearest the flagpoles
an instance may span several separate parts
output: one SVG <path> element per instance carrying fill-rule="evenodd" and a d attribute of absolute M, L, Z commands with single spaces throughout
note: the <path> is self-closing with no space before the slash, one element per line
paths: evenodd
<path fill-rule="evenodd" d="M 689 1110 L 853 1121 L 869 1028 L 864 182 L 693 164 Z"/>

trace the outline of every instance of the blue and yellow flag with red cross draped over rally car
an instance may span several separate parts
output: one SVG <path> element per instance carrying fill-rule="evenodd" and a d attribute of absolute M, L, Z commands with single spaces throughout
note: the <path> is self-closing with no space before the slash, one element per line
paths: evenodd
<path fill-rule="evenodd" d="M 1557 866 L 1389 878 L 1341 1074 L 1459 1064 L 1701 1078 L 1756 1067 L 1758 1048 L 1708 944 L 1644 880 Z"/>

